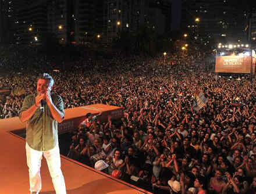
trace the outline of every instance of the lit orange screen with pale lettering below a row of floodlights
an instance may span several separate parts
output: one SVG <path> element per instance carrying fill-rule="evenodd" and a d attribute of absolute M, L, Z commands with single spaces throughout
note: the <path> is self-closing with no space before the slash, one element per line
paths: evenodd
<path fill-rule="evenodd" d="M 216 73 L 251 73 L 251 56 L 219 56 Z"/>

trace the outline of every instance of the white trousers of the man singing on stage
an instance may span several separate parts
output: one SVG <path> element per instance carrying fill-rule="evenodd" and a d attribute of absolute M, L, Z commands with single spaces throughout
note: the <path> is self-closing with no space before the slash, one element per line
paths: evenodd
<path fill-rule="evenodd" d="M 66 194 L 65 180 L 61 171 L 61 156 L 59 145 L 47 152 L 41 152 L 30 148 L 26 143 L 27 166 L 29 167 L 30 192 L 40 192 L 42 188 L 40 167 L 42 156 L 45 157 L 49 172 L 52 177 L 52 184 L 56 194 Z"/>

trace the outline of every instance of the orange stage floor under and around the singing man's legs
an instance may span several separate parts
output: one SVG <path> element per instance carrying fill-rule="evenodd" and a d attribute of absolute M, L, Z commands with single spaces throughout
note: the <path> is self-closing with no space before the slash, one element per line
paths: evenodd
<path fill-rule="evenodd" d="M 66 116 L 67 112 L 72 115 L 75 110 L 66 110 Z M 25 141 L 9 132 L 23 128 L 24 124 L 17 117 L 0 120 L 0 193 L 29 193 L 29 171 L 26 164 Z M 70 160 L 65 156 L 61 156 L 61 162 L 67 194 L 150 193 L 84 164 Z M 54 194 L 55 191 L 45 159 L 42 160 L 41 178 L 41 194 Z"/>

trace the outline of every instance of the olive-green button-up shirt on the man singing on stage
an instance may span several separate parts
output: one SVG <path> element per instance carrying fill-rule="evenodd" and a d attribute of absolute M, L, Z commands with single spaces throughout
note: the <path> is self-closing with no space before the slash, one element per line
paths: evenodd
<path fill-rule="evenodd" d="M 21 117 L 24 110 L 35 104 L 35 96 L 35 94 L 26 96 L 19 117 Z M 56 108 L 64 113 L 61 96 L 51 94 L 51 98 Z M 44 104 L 44 112 L 38 107 L 33 116 L 27 120 L 26 141 L 30 148 L 43 152 L 55 148 L 56 143 L 58 143 L 58 122 L 52 117 L 47 103 Z"/>

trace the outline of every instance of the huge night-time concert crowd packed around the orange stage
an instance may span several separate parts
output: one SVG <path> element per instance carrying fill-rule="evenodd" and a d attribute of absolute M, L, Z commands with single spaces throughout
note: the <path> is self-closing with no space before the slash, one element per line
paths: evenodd
<path fill-rule="evenodd" d="M 199 51 L 60 59 L 59 66 L 45 56 L 13 58 L 19 63 L 1 59 L 0 69 L 12 71 L 1 77 L 0 89 L 23 92 L 1 98 L 0 118 L 17 116 L 38 71 L 54 77 L 53 92 L 65 108 L 123 107 L 118 121 L 100 123 L 100 114 L 88 114 L 72 132 L 70 158 L 155 193 L 256 192 L 254 79 L 216 77 Z M 195 111 L 198 93 L 208 102 Z"/>

